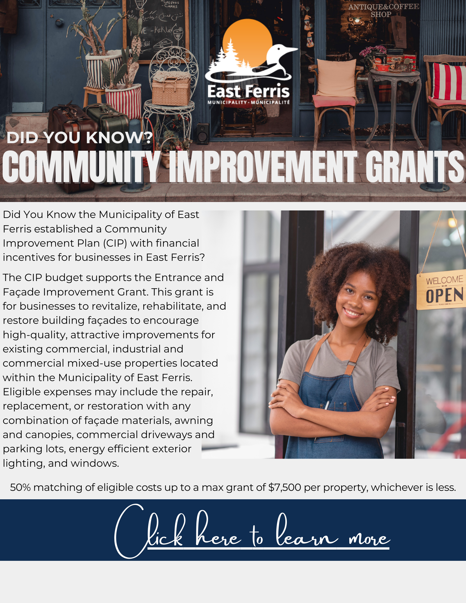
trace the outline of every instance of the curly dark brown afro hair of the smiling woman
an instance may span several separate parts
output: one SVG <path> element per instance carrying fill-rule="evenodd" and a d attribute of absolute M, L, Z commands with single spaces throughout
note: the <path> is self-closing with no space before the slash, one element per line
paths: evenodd
<path fill-rule="evenodd" d="M 307 273 L 307 294 L 315 322 L 335 326 L 337 295 L 348 277 L 359 270 L 371 276 L 380 297 L 380 311 L 369 320 L 366 333 L 375 341 L 388 344 L 397 335 L 398 320 L 407 309 L 411 288 L 409 268 L 391 247 L 343 243 L 319 253 Z"/>

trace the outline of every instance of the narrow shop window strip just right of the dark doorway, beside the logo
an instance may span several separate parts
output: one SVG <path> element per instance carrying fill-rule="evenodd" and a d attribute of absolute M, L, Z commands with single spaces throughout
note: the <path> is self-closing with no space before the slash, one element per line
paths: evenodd
<path fill-rule="evenodd" d="M 299 2 L 299 102 L 312 103 L 314 94 L 314 76 L 309 67 L 315 63 L 314 54 L 314 0 Z"/>

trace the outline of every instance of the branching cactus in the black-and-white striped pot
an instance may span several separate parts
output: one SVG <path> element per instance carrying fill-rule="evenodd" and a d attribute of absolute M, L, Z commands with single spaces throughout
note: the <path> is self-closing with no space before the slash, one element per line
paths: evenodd
<path fill-rule="evenodd" d="M 81 59 L 81 65 L 83 65 L 83 57 L 82 51 L 85 48 L 85 43 L 91 48 L 91 52 L 86 54 L 86 65 L 88 68 L 88 81 L 86 86 L 91 88 L 103 88 L 104 81 L 102 77 L 101 66 L 103 63 L 103 58 L 106 57 L 106 60 L 109 62 L 110 68 L 113 71 L 118 71 L 122 63 L 121 50 L 107 50 L 105 48 L 105 43 L 107 40 L 107 36 L 110 31 L 112 31 L 113 27 L 117 25 L 118 22 L 123 21 L 125 19 L 125 14 L 118 13 L 118 19 L 113 18 L 110 19 L 107 24 L 106 33 L 103 37 L 99 33 L 103 23 L 100 24 L 99 27 L 94 25 L 94 19 L 97 16 L 98 12 L 103 7 L 103 4 L 94 14 L 91 14 L 86 8 L 86 0 L 81 0 L 81 14 L 83 18 L 80 19 L 77 23 L 73 23 L 69 25 L 68 30 L 66 31 L 66 37 L 68 37 L 69 30 L 74 31 L 74 36 L 76 37 L 78 34 L 81 36 L 81 41 L 79 43 L 79 56 L 77 59 Z M 84 70 L 84 65 L 83 65 Z"/>

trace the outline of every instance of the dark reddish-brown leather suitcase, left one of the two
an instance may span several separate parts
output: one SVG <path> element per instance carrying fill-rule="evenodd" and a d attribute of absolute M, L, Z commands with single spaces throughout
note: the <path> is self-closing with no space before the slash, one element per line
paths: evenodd
<path fill-rule="evenodd" d="M 97 132 L 98 125 L 94 119 L 89 118 L 86 113 L 77 105 L 68 103 L 67 105 L 58 105 L 52 107 L 48 112 L 47 134 L 51 132 L 65 132 L 67 139 L 65 142 L 56 142 L 55 135 L 47 143 L 47 154 L 50 159 L 51 151 L 74 151 L 77 157 L 78 151 L 95 151 L 95 142 L 92 140 L 88 144 L 88 132 Z M 69 141 L 69 133 L 76 139 L 77 132 L 80 132 L 79 142 L 73 144 Z M 92 191 L 94 182 L 68 182 L 60 184 L 63 191 L 67 193 L 78 191 Z"/>

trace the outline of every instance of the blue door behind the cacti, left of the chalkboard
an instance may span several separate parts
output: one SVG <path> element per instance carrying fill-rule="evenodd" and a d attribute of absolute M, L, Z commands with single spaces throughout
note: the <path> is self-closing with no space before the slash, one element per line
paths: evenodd
<path fill-rule="evenodd" d="M 80 36 L 74 37 L 74 31 L 69 31 L 66 37 L 68 26 L 81 19 L 79 3 L 75 0 L 34 2 L 26 6 L 20 0 L 18 33 L 11 36 L 13 112 L 46 112 L 71 100 L 82 106 L 87 72 L 83 71 L 80 60 L 76 60 Z M 94 13 L 98 4 L 89 2 L 88 7 Z M 102 8 L 96 19 L 98 25 L 103 22 L 100 31 L 106 30 L 107 23 L 118 17 L 118 12 L 121 12 L 120 2 L 112 2 L 111 6 L 109 2 Z M 123 26 L 119 23 L 107 38 L 106 49 L 121 48 L 122 40 Z M 85 48 L 88 52 L 89 47 Z M 95 102 L 92 96 L 89 100 Z"/>

